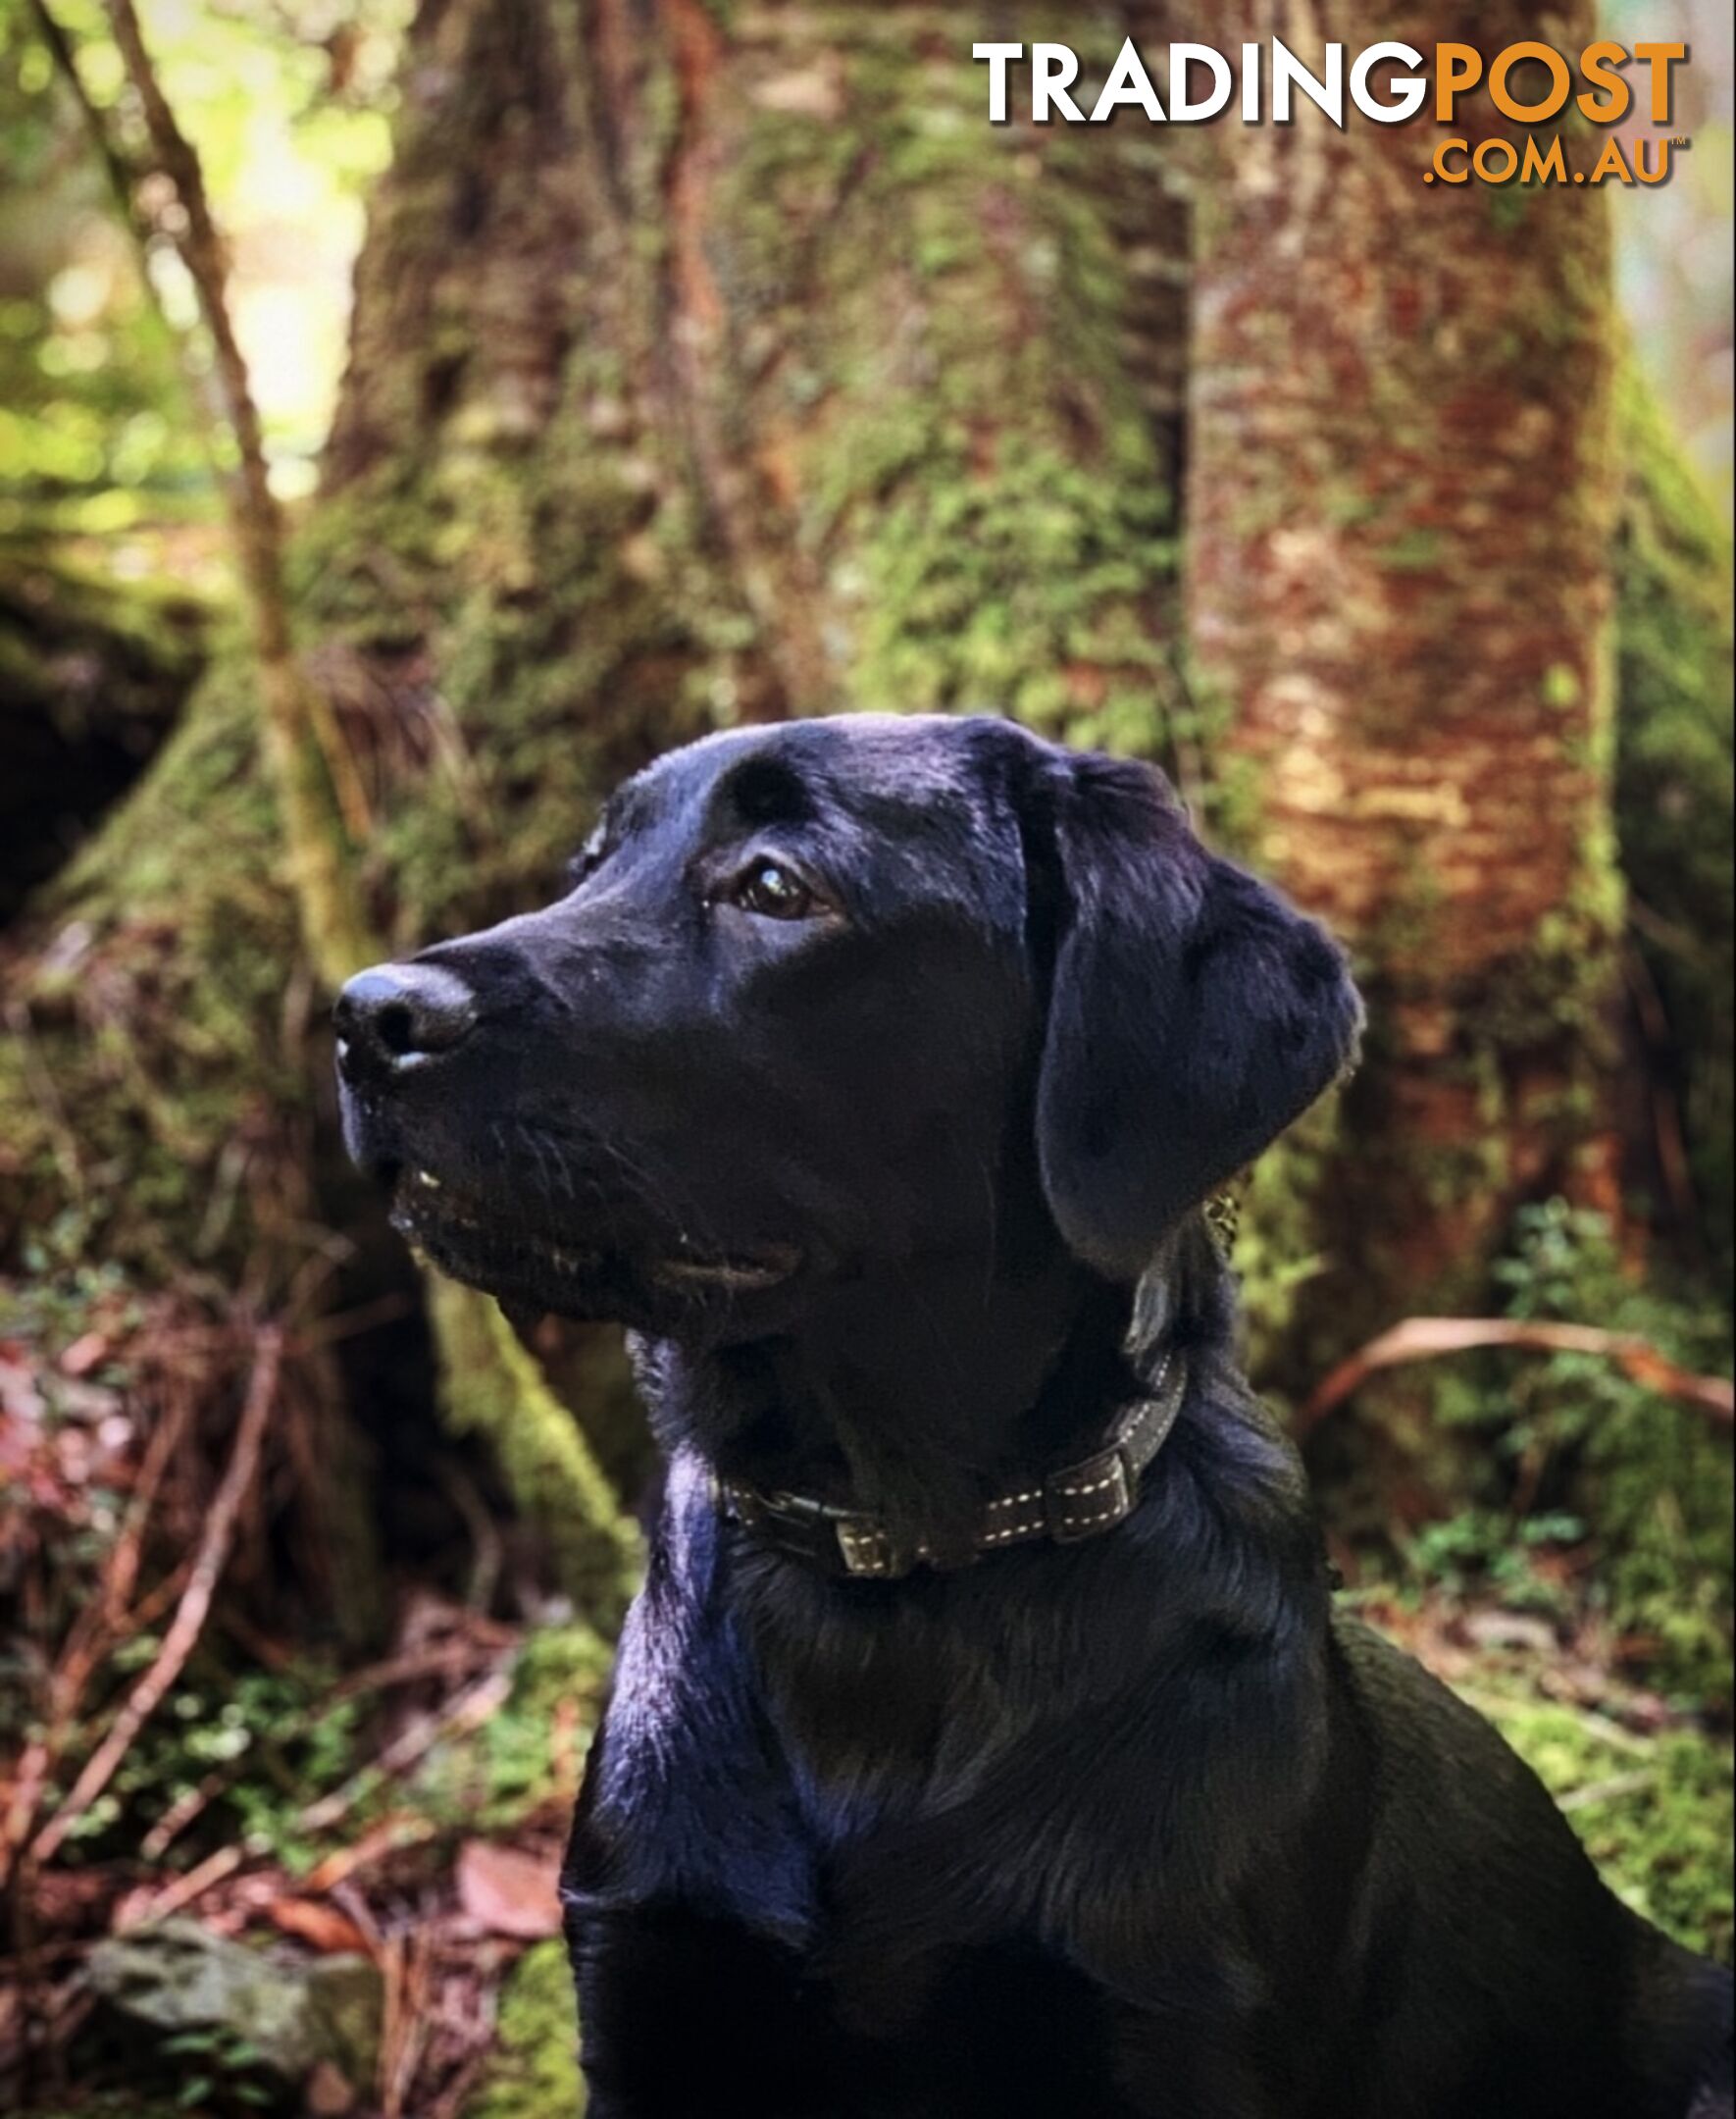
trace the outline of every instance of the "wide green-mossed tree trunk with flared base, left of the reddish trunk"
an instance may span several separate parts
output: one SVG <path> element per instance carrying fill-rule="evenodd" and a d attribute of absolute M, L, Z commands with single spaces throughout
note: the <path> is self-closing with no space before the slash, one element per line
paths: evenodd
<path fill-rule="evenodd" d="M 1145 15 L 1028 34 L 1106 66 Z M 392 947 L 545 898 L 598 795 L 721 723 L 998 706 L 1166 750 L 1185 216 L 1149 129 L 984 123 L 996 17 L 424 4 L 295 553 Z M 233 651 L 6 966 L 0 1195 L 49 1267 L 318 1284 L 282 860 Z"/>

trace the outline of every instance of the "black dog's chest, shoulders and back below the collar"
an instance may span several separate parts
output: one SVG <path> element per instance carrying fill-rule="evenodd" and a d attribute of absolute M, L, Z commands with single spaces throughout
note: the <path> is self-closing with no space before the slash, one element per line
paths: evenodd
<path fill-rule="evenodd" d="M 1679 2119 L 1711 1973 L 1477 1716 L 1329 1625 L 1232 1418 L 1193 1407 L 1115 1538 L 892 1585 L 744 1545 L 676 1456 L 566 1871 L 596 2081 L 655 2064 L 644 2007 L 742 2066 L 776 2017 L 848 2085 L 767 2089 L 801 2119 Z M 1649 2036 L 1681 2051 L 1641 2085 Z"/>

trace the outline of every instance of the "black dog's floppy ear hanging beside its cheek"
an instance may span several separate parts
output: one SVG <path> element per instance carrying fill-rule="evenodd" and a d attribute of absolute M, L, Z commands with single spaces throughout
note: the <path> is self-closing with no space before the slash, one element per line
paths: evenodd
<path fill-rule="evenodd" d="M 1344 951 L 1208 854 L 1151 767 L 1064 759 L 1049 793 L 1043 1191 L 1066 1244 L 1130 1280 L 1350 1066 L 1361 1004 Z"/>

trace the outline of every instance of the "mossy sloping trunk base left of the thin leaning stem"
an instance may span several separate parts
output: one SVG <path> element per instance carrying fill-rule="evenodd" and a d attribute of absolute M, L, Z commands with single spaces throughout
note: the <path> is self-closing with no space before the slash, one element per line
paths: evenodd
<path fill-rule="evenodd" d="M 8 977 L 28 1038 L 0 1045 L 0 1221 L 38 1240 L 59 1223 L 64 1248 L 148 1276 L 240 1254 L 248 1189 L 223 1157 L 307 1093 L 282 1034 L 295 911 L 278 856 L 231 653 L 40 901 L 45 949 Z"/>

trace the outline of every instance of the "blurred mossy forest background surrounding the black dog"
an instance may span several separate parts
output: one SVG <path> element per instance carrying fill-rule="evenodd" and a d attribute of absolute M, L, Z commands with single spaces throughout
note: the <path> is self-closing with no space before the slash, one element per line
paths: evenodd
<path fill-rule="evenodd" d="M 0 0 L 0 2102 L 577 2108 L 646 1439 L 613 1333 L 418 1278 L 329 1000 L 852 706 L 1157 759 L 1352 941 L 1255 1373 L 1344 1593 L 1728 1956 L 1728 11 L 1605 11 L 1694 47 L 1615 197 L 969 59 L 1579 0 L 140 17 Z"/>

